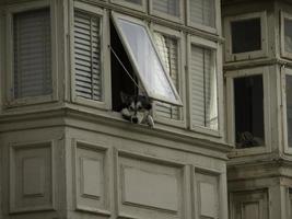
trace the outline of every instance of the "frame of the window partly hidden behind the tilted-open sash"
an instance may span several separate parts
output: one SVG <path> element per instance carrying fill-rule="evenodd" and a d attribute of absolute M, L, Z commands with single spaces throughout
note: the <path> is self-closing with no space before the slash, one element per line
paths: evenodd
<path fill-rule="evenodd" d="M 151 31 L 152 33 L 154 32 L 159 32 L 163 35 L 166 35 L 166 36 L 171 36 L 173 38 L 175 38 L 177 41 L 177 45 L 178 45 L 178 48 L 177 48 L 177 54 L 178 54 L 178 94 L 183 101 L 183 105 L 184 107 L 179 107 L 179 117 L 180 119 L 179 120 L 176 120 L 176 119 L 171 119 L 171 118 L 163 118 L 161 116 L 157 116 L 156 114 L 156 111 L 155 111 L 155 107 L 156 107 L 156 102 L 154 102 L 153 104 L 153 118 L 155 122 L 157 123 L 162 123 L 162 124 L 166 124 L 166 125 L 174 125 L 174 126 L 178 126 L 178 127 L 186 127 L 186 93 L 185 93 L 185 87 L 184 87 L 184 81 L 185 81 L 185 72 L 184 72 L 184 64 L 185 64 L 185 60 L 186 60 L 186 57 L 185 57 L 185 53 L 184 53 L 184 49 L 186 47 L 185 45 L 185 41 L 184 41 L 184 34 L 183 32 L 178 32 L 178 31 L 175 31 L 175 30 L 172 30 L 172 28 L 168 28 L 168 27 L 165 27 L 165 26 L 162 26 L 162 25 L 157 25 L 157 24 L 152 24 L 151 25 Z M 162 65 L 164 65 L 162 62 Z"/>

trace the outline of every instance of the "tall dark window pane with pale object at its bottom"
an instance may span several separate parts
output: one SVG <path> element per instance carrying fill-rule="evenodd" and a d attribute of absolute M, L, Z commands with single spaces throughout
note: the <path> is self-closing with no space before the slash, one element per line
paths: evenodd
<path fill-rule="evenodd" d="M 234 79 L 237 148 L 264 146 L 262 76 Z"/>

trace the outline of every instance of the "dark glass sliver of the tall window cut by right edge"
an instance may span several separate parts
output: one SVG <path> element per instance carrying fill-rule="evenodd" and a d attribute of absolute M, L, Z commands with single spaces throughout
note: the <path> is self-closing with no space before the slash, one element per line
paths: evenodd
<path fill-rule="evenodd" d="M 292 147 L 292 76 L 285 76 L 288 145 Z"/>

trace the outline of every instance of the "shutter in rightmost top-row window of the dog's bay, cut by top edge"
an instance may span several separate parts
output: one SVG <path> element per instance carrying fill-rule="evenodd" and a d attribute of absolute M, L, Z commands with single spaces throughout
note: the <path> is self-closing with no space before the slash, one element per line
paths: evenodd
<path fill-rule="evenodd" d="M 192 23 L 215 26 L 214 0 L 189 0 L 189 13 Z"/>

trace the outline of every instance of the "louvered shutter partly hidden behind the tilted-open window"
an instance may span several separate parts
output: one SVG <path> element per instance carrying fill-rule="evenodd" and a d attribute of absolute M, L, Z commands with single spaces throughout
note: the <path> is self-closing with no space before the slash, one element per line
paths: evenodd
<path fill-rule="evenodd" d="M 167 73 L 170 73 L 176 90 L 178 91 L 178 45 L 177 39 L 154 33 L 154 39 L 160 56 L 166 67 Z M 179 107 L 157 102 L 155 107 L 157 116 L 172 119 L 180 119 Z"/>

